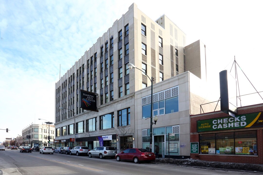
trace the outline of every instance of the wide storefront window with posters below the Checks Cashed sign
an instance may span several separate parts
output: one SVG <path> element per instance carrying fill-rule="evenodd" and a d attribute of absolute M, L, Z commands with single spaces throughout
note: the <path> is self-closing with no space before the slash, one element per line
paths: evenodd
<path fill-rule="evenodd" d="M 257 131 L 199 134 L 202 154 L 257 155 Z"/>

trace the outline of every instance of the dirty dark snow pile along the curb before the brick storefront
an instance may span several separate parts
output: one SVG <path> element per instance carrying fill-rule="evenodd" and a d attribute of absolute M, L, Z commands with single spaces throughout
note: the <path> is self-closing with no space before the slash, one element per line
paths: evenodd
<path fill-rule="evenodd" d="M 236 169 L 243 171 L 257 171 L 263 172 L 263 166 L 245 163 L 222 163 L 222 162 L 209 162 L 201 161 L 196 159 L 173 159 L 164 158 L 156 159 L 155 162 L 167 163 L 174 165 L 184 165 L 184 166 L 196 166 L 196 167 L 208 167 L 208 168 L 222 168 L 222 169 Z"/>

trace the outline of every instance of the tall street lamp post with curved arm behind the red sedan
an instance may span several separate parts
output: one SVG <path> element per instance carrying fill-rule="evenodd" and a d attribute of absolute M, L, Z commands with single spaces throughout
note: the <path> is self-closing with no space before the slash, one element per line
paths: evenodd
<path fill-rule="evenodd" d="M 128 63 L 127 64 L 129 69 L 132 69 L 132 68 L 136 68 L 138 70 L 140 70 L 139 68 L 135 67 L 133 64 L 131 63 Z M 142 70 L 140 70 L 142 71 Z M 143 72 L 143 71 L 142 71 Z M 154 116 L 154 123 L 153 123 L 153 77 L 149 77 L 145 72 L 143 72 L 151 81 L 151 116 L 150 116 L 150 151 L 151 151 L 151 148 L 152 148 L 152 143 L 153 143 L 153 124 L 156 125 L 156 122 L 158 120 L 157 116 Z M 146 119 L 145 119 L 146 120 Z"/>

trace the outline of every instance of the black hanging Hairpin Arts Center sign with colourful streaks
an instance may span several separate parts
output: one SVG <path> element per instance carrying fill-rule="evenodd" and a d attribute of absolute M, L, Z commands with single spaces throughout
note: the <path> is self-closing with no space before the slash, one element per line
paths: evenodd
<path fill-rule="evenodd" d="M 91 111 L 97 110 L 97 95 L 96 93 L 80 90 L 80 108 Z"/>

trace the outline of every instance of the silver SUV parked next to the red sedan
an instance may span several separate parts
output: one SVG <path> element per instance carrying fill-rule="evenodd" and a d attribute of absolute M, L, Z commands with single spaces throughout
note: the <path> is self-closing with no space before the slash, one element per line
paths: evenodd
<path fill-rule="evenodd" d="M 102 147 L 95 147 L 93 150 L 88 152 L 89 157 L 97 156 L 100 159 L 104 157 L 111 157 L 115 158 L 115 148 L 111 146 L 102 146 Z"/>

